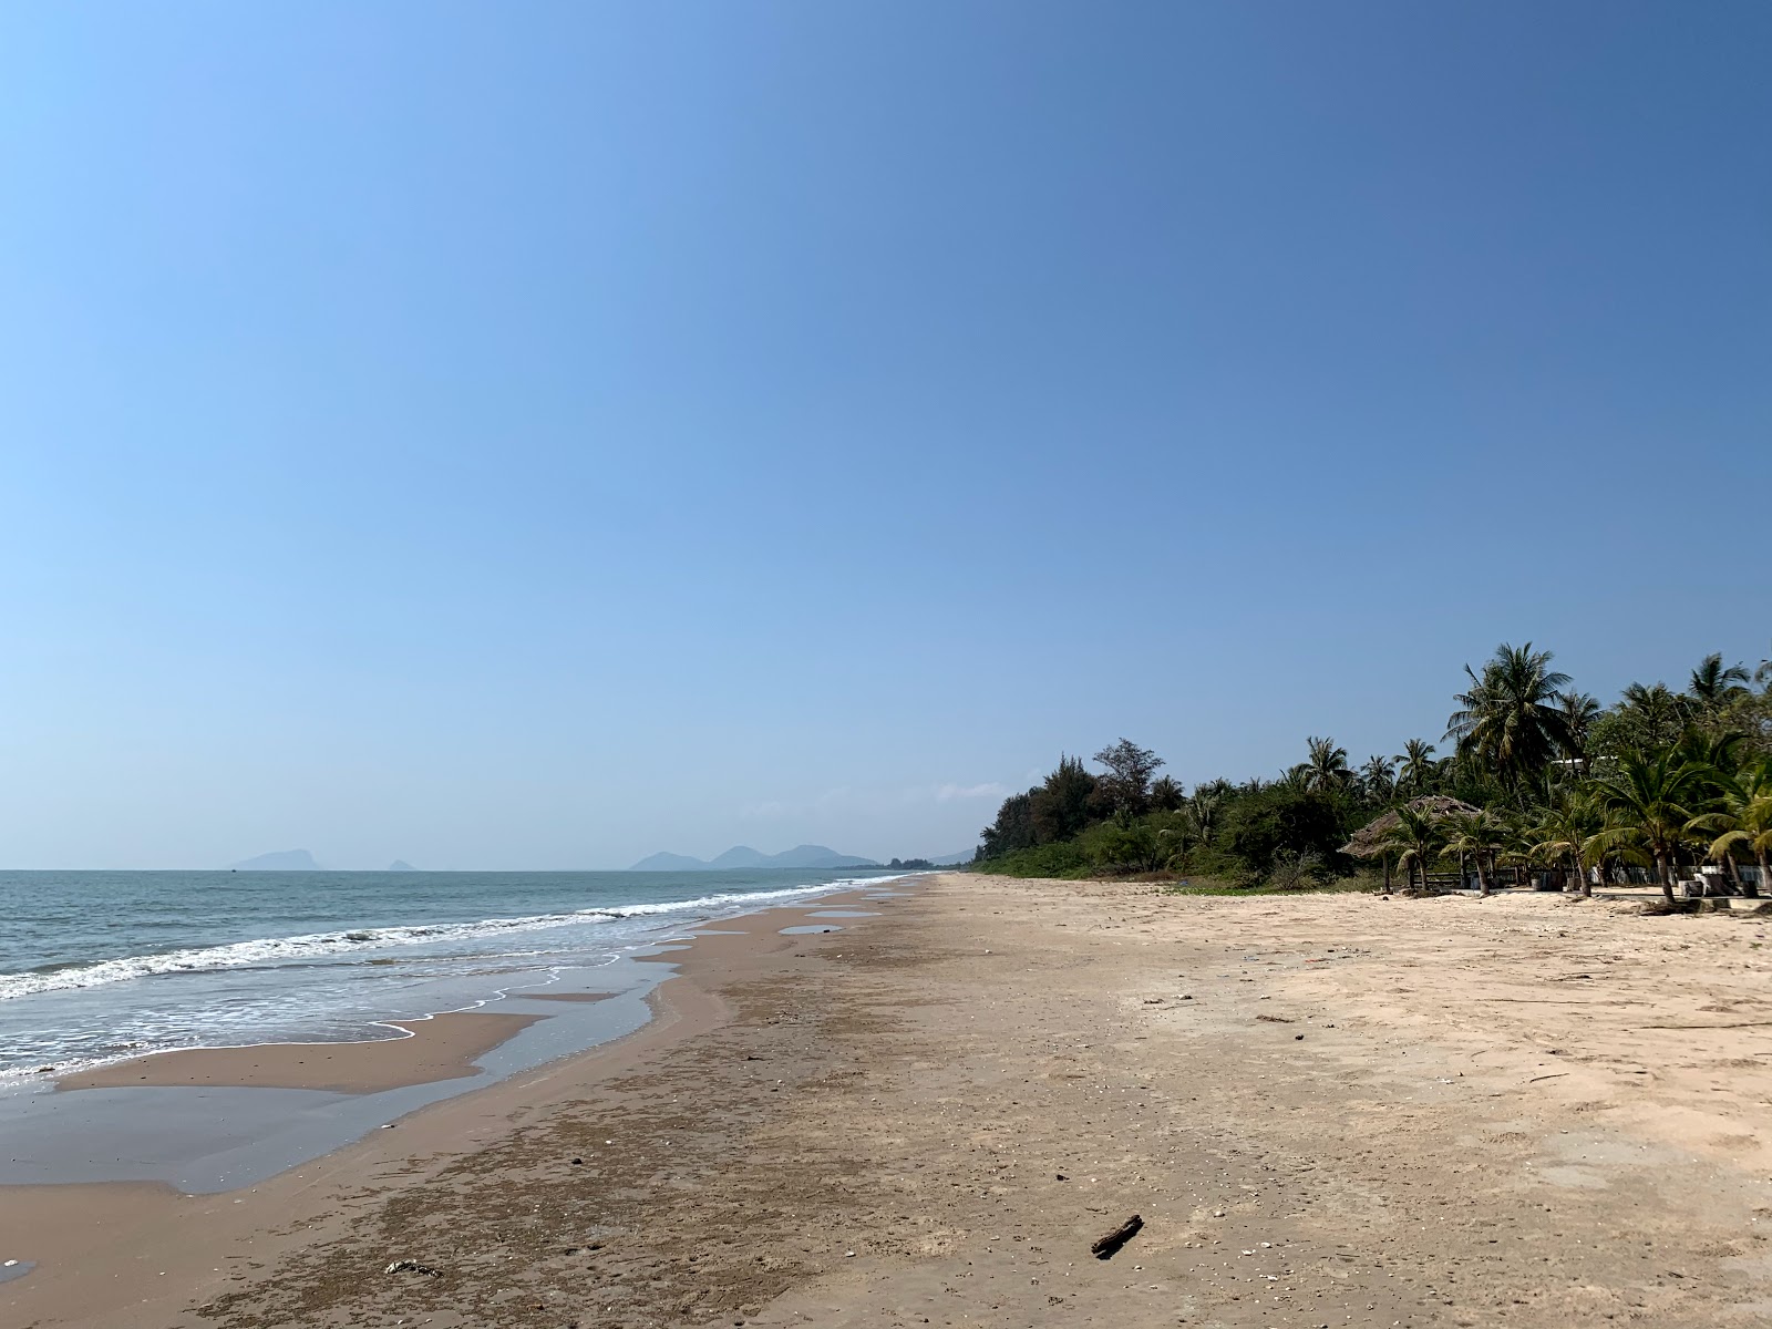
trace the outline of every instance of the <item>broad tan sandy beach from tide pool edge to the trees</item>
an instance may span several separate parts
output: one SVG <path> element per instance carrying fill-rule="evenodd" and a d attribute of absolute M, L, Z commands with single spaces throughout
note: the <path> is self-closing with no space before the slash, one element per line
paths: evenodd
<path fill-rule="evenodd" d="M 858 907 L 730 923 L 641 1033 L 246 1193 L 0 1193 L 39 1262 L 0 1322 L 1772 1322 L 1760 920 L 959 875 Z"/>

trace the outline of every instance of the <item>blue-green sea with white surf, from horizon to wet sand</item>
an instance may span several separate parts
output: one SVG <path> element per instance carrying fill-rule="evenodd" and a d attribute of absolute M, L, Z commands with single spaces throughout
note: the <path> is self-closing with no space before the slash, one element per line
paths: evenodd
<path fill-rule="evenodd" d="M 381 1021 L 477 1008 L 859 879 L 5 872 L 0 1086 L 174 1047 L 377 1037 Z"/>

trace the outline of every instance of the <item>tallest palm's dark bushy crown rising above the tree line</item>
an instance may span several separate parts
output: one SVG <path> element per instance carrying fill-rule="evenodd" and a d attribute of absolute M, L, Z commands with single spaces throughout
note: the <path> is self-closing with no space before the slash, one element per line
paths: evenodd
<path fill-rule="evenodd" d="M 1458 742 L 1462 755 L 1497 771 L 1510 790 L 1570 750 L 1568 721 L 1558 707 L 1568 675 L 1550 668 L 1549 650 L 1503 641 L 1481 677 L 1469 664 L 1464 672 L 1471 689 L 1455 698 L 1458 709 L 1446 719 L 1446 737 Z"/>

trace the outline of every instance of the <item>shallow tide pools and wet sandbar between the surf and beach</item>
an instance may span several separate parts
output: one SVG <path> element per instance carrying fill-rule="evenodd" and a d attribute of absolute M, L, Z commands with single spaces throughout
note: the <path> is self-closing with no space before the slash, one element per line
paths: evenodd
<path fill-rule="evenodd" d="M 661 920 L 595 962 L 516 971 L 519 982 L 468 1005 L 365 1026 L 390 1037 L 172 1047 L 18 1083 L 0 1100 L 0 1187 L 167 1182 L 191 1194 L 269 1180 L 424 1108 L 634 1033 L 675 953 L 739 936 L 719 923 L 781 911 L 785 925 L 828 930 L 838 927 L 833 907 L 868 918 L 840 905 L 891 900 L 902 882 L 845 879 L 789 898 L 766 891 L 746 913 Z"/>

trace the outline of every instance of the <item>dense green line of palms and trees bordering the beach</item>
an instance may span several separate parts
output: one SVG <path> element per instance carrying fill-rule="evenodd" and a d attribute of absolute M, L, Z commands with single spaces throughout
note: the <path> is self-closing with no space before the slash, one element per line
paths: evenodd
<path fill-rule="evenodd" d="M 1683 689 L 1579 691 L 1549 650 L 1503 643 L 1465 666 L 1437 742 L 1354 766 L 1329 737 L 1274 780 L 1185 790 L 1131 739 L 1090 771 L 1063 755 L 980 833 L 975 867 L 1021 875 L 1187 872 L 1239 886 L 1310 886 L 1382 863 L 1488 891 L 1504 874 L 1591 890 L 1717 868 L 1717 890 L 1772 890 L 1772 661 L 1706 656 Z M 1363 856 L 1356 859 L 1348 851 Z M 1373 861 L 1377 859 L 1377 863 Z"/>

